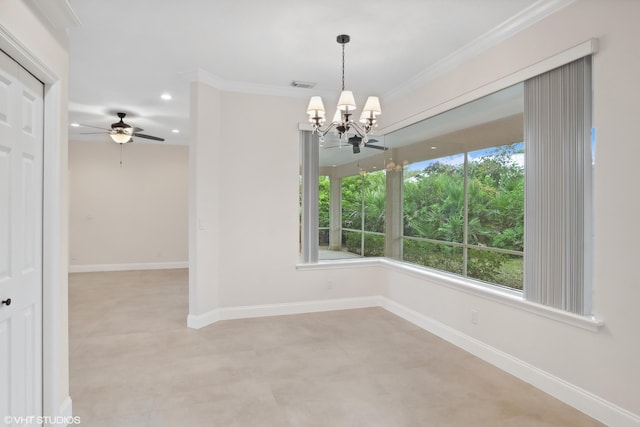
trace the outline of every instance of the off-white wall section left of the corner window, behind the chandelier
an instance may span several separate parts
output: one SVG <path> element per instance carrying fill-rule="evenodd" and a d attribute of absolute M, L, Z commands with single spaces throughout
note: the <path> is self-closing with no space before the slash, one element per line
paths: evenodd
<path fill-rule="evenodd" d="M 296 270 L 298 122 L 307 100 L 202 83 L 191 93 L 190 314 L 379 295 L 376 268 Z"/>

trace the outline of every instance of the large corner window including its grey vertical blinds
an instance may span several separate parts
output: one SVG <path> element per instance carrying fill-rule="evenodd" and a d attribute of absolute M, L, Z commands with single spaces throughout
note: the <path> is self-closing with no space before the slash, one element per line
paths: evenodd
<path fill-rule="evenodd" d="M 384 148 L 362 156 L 303 132 L 303 183 L 313 184 L 303 200 L 315 206 L 303 202 L 303 261 L 318 259 L 305 235 L 318 242 L 328 227 L 329 251 L 384 255 L 589 314 L 590 130 L 586 56 L 378 137 Z"/>

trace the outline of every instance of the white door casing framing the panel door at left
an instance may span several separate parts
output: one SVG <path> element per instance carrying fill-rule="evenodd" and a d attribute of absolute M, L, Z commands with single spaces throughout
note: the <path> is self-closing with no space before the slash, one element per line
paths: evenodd
<path fill-rule="evenodd" d="M 70 416 L 67 95 L 63 91 L 63 78 L 1 24 L 0 49 L 44 83 L 42 413 L 45 416 Z"/>

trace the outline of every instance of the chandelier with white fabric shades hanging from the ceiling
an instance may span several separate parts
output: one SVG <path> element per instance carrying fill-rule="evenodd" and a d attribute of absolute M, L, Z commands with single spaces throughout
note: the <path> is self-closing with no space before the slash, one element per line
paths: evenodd
<path fill-rule="evenodd" d="M 336 114 L 333 116 L 333 121 L 327 126 L 324 126 L 326 111 L 320 96 L 312 96 L 309 101 L 309 106 L 307 107 L 309 121 L 313 125 L 313 133 L 319 136 L 320 142 L 323 142 L 324 136 L 331 129 L 335 128 L 341 139 L 342 135 L 353 130 L 362 138 L 362 143 L 366 144 L 369 141 L 371 130 L 377 125 L 377 117 L 382 112 L 378 97 L 370 96 L 364 104 L 364 109 L 360 115 L 360 123 L 356 123 L 352 118 L 356 109 L 356 101 L 353 97 L 353 92 L 344 89 L 344 45 L 349 43 L 350 39 L 346 34 L 341 34 L 336 39 L 336 41 L 342 45 L 342 92 L 338 99 L 338 106 Z"/>

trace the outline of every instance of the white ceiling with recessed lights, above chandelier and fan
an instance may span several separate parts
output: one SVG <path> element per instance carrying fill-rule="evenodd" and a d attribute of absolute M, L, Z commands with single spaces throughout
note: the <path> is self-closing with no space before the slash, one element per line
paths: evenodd
<path fill-rule="evenodd" d="M 392 97 L 456 56 L 490 47 L 570 0 L 69 0 L 69 122 L 125 121 L 168 144 L 188 140 L 188 77 L 307 98 L 346 86 L 356 100 Z M 316 82 L 294 89 L 292 80 Z M 168 92 L 171 101 L 160 98 Z M 335 100 L 325 99 L 333 104 Z M 178 129 L 179 134 L 171 132 Z M 108 140 L 71 128 L 75 140 Z M 144 142 L 137 139 L 136 142 Z"/>

